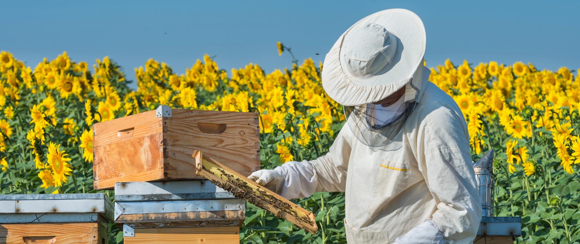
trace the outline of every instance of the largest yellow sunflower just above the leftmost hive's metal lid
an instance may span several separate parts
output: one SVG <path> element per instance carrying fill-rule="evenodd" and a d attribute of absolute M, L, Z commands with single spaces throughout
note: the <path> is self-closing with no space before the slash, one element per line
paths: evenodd
<path fill-rule="evenodd" d="M 63 182 L 67 183 L 67 175 L 71 175 L 73 171 L 71 165 L 68 164 L 71 159 L 67 156 L 68 154 L 64 151 L 60 151 L 60 144 L 50 142 L 46 158 L 48 159 L 48 168 L 52 169 L 52 179 L 55 186 L 62 186 Z"/>

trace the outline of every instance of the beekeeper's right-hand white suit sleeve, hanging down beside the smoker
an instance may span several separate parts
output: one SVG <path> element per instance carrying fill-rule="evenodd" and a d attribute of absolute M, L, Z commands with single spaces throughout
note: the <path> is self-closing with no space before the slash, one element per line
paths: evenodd
<path fill-rule="evenodd" d="M 457 109 L 458 110 L 458 109 Z M 437 202 L 432 219 L 448 243 L 472 243 L 481 221 L 469 135 L 463 114 L 440 106 L 418 133 L 418 167 Z"/>

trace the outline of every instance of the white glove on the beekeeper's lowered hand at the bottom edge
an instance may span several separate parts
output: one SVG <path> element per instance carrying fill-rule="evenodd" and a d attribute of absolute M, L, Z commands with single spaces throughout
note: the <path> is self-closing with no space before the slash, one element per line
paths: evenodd
<path fill-rule="evenodd" d="M 443 234 L 433 224 L 432 220 L 427 220 L 415 228 L 412 228 L 407 234 L 395 239 L 394 244 L 445 244 Z"/>

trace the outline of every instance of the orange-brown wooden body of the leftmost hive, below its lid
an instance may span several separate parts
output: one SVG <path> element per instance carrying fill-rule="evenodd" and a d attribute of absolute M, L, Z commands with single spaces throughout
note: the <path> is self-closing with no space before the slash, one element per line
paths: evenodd
<path fill-rule="evenodd" d="M 99 243 L 98 223 L 0 224 L 0 243 Z M 50 242 L 50 241 L 55 242 Z M 41 242 L 42 241 L 42 242 Z"/>

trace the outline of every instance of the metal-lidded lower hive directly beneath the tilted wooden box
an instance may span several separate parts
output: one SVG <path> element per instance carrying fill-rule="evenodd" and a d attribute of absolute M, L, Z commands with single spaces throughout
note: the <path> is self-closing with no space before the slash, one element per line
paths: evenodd
<path fill-rule="evenodd" d="M 115 184 L 124 243 L 239 243 L 245 201 L 209 180 Z"/>

